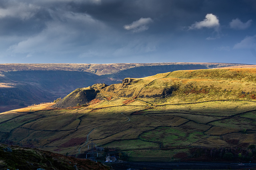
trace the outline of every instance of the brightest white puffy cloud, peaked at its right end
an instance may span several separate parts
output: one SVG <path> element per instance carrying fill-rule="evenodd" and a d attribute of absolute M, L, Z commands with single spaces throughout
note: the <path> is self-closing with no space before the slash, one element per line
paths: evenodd
<path fill-rule="evenodd" d="M 189 27 L 189 29 L 194 30 L 194 29 L 201 29 L 204 27 L 218 29 L 219 26 L 220 26 L 220 23 L 219 23 L 218 17 L 213 14 L 207 14 L 203 21 L 195 22 Z"/>

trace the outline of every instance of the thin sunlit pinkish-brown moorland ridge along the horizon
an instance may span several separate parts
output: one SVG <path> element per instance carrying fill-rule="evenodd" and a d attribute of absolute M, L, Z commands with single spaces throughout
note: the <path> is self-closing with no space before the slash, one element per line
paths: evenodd
<path fill-rule="evenodd" d="M 163 66 L 163 65 L 183 65 L 184 69 L 188 65 L 203 65 L 206 69 L 242 66 L 248 64 L 237 63 L 110 63 L 110 64 L 86 64 L 86 63 L 47 63 L 47 64 L 21 64 L 21 63 L 6 63 L 0 64 L 0 73 L 6 71 L 26 71 L 26 70 L 44 70 L 44 71 L 86 71 L 96 75 L 107 75 L 117 73 L 122 70 L 142 67 L 142 66 Z"/>

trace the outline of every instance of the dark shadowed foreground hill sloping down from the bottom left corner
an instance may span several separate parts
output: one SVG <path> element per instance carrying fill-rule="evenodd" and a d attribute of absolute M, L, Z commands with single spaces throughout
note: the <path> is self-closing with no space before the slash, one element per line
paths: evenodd
<path fill-rule="evenodd" d="M 40 169 L 41 168 L 41 169 Z M 109 170 L 101 163 L 44 150 L 0 144 L 0 170 Z"/>

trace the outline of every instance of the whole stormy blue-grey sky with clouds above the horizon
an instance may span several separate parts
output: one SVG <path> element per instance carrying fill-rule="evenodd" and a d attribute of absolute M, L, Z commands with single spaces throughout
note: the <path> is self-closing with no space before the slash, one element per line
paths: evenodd
<path fill-rule="evenodd" d="M 1 0 L 0 63 L 256 64 L 256 0 Z"/>

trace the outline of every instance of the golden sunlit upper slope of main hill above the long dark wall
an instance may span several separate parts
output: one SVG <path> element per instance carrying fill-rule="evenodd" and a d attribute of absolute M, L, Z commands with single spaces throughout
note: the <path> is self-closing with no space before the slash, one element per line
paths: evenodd
<path fill-rule="evenodd" d="M 131 98 L 169 98 L 172 103 L 252 99 L 256 94 L 256 68 L 204 69 L 162 73 L 110 85 L 100 92 Z M 170 98 L 171 96 L 171 98 Z M 147 100 L 147 99 L 146 99 Z"/>

